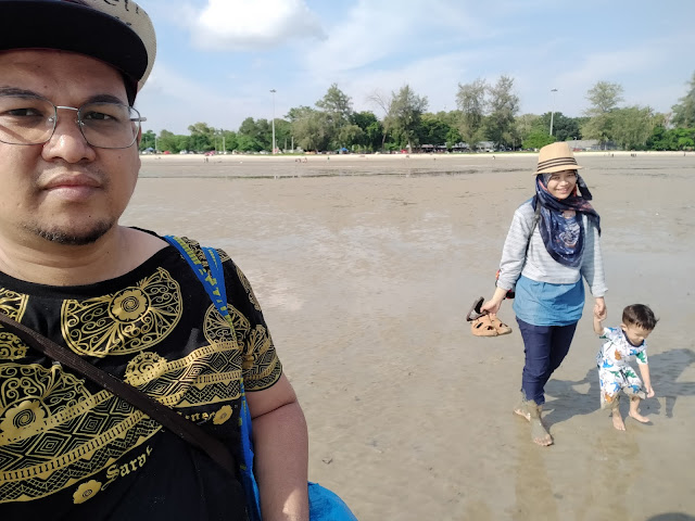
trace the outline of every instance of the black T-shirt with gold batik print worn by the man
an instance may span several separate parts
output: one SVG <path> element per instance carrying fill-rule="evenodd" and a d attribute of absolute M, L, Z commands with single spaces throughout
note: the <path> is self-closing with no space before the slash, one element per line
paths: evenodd
<path fill-rule="evenodd" d="M 201 262 L 199 244 L 188 241 Z M 219 315 L 170 245 L 129 274 L 49 287 L 0 274 L 0 313 L 125 380 L 239 449 L 240 381 L 281 366 L 251 287 L 224 252 Z M 215 461 L 0 326 L 0 519 L 242 520 Z"/>

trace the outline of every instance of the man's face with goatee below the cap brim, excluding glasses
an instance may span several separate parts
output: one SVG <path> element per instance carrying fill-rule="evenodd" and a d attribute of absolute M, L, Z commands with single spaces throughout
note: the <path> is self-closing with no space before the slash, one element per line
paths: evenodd
<path fill-rule="evenodd" d="M 127 104 L 116 69 L 62 51 L 0 52 L 0 93 L 16 90 L 54 105 L 79 107 L 104 97 Z M 75 111 L 59 110 L 47 143 L 0 142 L 0 240 L 29 234 L 62 244 L 96 241 L 118 221 L 139 168 L 137 143 L 121 150 L 90 147 Z"/>

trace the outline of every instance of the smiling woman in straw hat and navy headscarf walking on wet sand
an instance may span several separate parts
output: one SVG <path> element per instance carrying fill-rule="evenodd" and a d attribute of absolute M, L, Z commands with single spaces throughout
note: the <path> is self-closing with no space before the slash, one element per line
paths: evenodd
<path fill-rule="evenodd" d="M 502 251 L 497 288 L 481 309 L 493 318 L 507 292 L 523 338 L 521 399 L 514 412 L 531 423 L 531 439 L 552 445 L 541 421 L 545 384 L 567 355 L 584 307 L 586 280 L 596 314 L 605 313 L 601 219 L 566 142 L 539 153 L 535 195 L 517 208 Z"/>

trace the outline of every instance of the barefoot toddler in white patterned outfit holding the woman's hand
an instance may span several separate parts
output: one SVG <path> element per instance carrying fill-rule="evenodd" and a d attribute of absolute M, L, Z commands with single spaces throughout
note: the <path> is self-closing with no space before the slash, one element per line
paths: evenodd
<path fill-rule="evenodd" d="M 601 407 L 610 409 L 612 427 L 624 431 L 626 423 L 620 416 L 620 391 L 630 396 L 630 417 L 641 423 L 649 422 L 648 418 L 640 414 L 640 403 L 654 396 L 647 360 L 647 336 L 654 331 L 658 319 L 644 304 L 626 307 L 619 328 L 604 328 L 606 315 L 605 310 L 594 313 L 594 331 L 604 341 L 596 355 Z M 642 380 L 630 365 L 633 360 L 637 363 Z"/>

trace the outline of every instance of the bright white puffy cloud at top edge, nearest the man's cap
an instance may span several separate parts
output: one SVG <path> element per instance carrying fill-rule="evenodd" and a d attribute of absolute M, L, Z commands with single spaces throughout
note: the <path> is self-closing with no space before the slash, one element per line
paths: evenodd
<path fill-rule="evenodd" d="M 193 45 L 204 50 L 258 50 L 324 38 L 304 0 L 207 0 L 188 23 Z"/>

